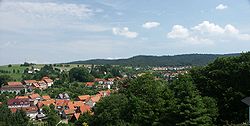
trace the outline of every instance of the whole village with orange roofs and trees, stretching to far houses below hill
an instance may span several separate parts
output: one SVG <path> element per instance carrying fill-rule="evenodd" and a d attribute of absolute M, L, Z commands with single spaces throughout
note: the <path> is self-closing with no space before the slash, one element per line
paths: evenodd
<path fill-rule="evenodd" d="M 74 123 L 85 113 L 94 114 L 93 108 L 96 103 L 102 98 L 117 92 L 119 84 L 122 84 L 126 79 L 137 78 L 146 73 L 157 73 L 160 76 L 156 76 L 156 78 L 171 81 L 179 74 L 187 73 L 190 68 L 184 66 L 151 67 L 148 69 L 144 67 L 127 68 L 107 65 L 91 68 L 89 65 L 75 65 L 67 70 L 70 65 L 64 65 L 67 67 L 59 70 L 56 66 L 58 65 L 44 65 L 41 68 L 37 68 L 35 65 L 26 66 L 26 69 L 20 72 L 22 78 L 27 78 L 27 76 L 35 78 L 37 75 L 40 77 L 44 72 L 45 75 L 52 76 L 52 78 L 42 76 L 41 79 L 36 80 L 23 79 L 22 81 L 5 82 L 1 86 L 0 92 L 6 96 L 6 101 L 0 101 L 0 105 L 7 105 L 13 114 L 17 111 L 24 111 L 29 120 L 33 120 L 33 123 L 47 122 L 48 118 L 50 118 L 47 112 L 48 108 L 55 111 L 55 116 L 61 120 L 60 123 Z M 22 67 L 21 64 L 20 68 Z M 8 68 L 11 69 L 12 67 L 9 65 Z M 86 71 L 83 72 L 84 70 Z M 14 69 L 11 71 L 14 71 Z M 82 75 L 78 76 L 80 73 Z M 57 76 L 53 77 L 53 74 L 57 74 Z M 72 77 L 68 77 L 70 74 L 72 74 Z M 81 80 L 81 77 L 89 75 L 94 75 L 96 78 L 91 77 L 90 79 Z"/>

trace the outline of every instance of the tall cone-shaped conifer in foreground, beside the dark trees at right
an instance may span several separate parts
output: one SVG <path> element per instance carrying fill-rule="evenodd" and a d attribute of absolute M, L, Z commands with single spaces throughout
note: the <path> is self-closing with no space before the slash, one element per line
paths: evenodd
<path fill-rule="evenodd" d="M 213 111 L 216 110 L 216 106 L 205 105 L 190 77 L 180 77 L 174 81 L 171 89 L 174 91 L 176 99 L 177 125 L 213 125 L 213 120 L 217 118 L 215 116 L 217 111 Z M 210 115 L 209 112 L 215 115 Z"/>

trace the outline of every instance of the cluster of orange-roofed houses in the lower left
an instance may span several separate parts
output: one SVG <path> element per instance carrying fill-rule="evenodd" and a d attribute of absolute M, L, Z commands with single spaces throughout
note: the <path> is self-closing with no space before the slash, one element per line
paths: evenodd
<path fill-rule="evenodd" d="M 119 79 L 119 78 L 118 78 Z M 7 106 L 12 113 L 17 110 L 23 110 L 31 120 L 46 120 L 47 115 L 43 111 L 43 107 L 54 106 L 58 115 L 62 120 L 68 122 L 78 120 L 80 114 L 89 112 L 91 108 L 103 97 L 109 96 L 111 93 L 110 86 L 114 84 L 117 78 L 100 79 L 96 78 L 94 82 L 86 82 L 86 87 L 93 87 L 97 84 L 97 88 L 107 89 L 100 90 L 95 95 L 79 95 L 71 98 L 67 93 L 60 93 L 55 98 L 49 95 L 39 95 L 35 93 L 35 89 L 46 90 L 53 86 L 53 80 L 49 77 L 43 77 L 42 80 L 24 80 L 23 82 L 7 82 L 1 87 L 1 93 L 14 93 L 15 98 L 8 99 Z M 19 95 L 23 94 L 23 95 Z M 0 105 L 3 103 L 0 102 Z"/>

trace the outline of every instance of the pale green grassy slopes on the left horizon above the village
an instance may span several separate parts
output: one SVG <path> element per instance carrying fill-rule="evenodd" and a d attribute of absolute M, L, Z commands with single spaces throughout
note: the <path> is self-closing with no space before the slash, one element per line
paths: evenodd
<path fill-rule="evenodd" d="M 34 68 L 39 68 L 41 69 L 45 64 L 36 64 L 33 65 Z M 82 64 L 68 64 L 69 66 L 65 67 L 64 65 L 62 67 L 54 67 L 54 68 L 58 68 L 60 70 L 64 70 L 64 71 L 69 71 L 70 69 L 74 68 L 74 67 L 78 67 L 78 66 L 83 66 Z M 1 73 L 0 75 L 10 75 L 13 78 L 13 81 L 21 81 L 22 80 L 22 74 L 24 72 L 24 70 L 26 68 L 31 69 L 30 67 L 25 67 L 25 66 L 20 66 L 20 64 L 12 64 L 11 67 L 8 67 L 8 65 L 4 65 L 4 66 L 0 66 L 0 70 L 3 71 L 8 71 L 8 73 Z"/>

